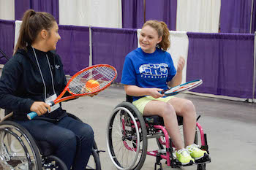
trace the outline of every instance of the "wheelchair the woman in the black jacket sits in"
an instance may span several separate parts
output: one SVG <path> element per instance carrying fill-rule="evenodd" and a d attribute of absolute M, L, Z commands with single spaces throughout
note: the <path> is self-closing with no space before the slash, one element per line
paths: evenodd
<path fill-rule="evenodd" d="M 68 113 L 68 116 L 80 120 L 75 115 Z M 35 141 L 29 131 L 11 117 L 12 113 L 5 114 L 0 121 L 0 170 L 68 170 L 65 163 L 53 155 L 54 148 L 48 142 Z M 99 152 L 94 141 L 86 169 L 101 170 Z"/>

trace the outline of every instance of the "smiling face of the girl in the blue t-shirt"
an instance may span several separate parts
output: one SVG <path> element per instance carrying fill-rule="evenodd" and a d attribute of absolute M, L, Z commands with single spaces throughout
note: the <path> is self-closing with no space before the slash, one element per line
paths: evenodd
<path fill-rule="evenodd" d="M 151 26 L 144 26 L 140 31 L 139 43 L 141 49 L 145 53 L 154 53 L 157 44 L 162 41 L 162 36 L 159 37 L 157 30 Z"/>

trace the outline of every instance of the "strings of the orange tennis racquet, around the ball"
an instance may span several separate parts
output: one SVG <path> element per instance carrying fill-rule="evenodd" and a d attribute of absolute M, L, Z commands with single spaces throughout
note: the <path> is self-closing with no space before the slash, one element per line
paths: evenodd
<path fill-rule="evenodd" d="M 116 77 L 116 72 L 110 66 L 97 66 L 80 72 L 69 83 L 69 92 L 74 94 L 94 93 L 105 88 Z M 86 88 L 86 82 L 96 80 L 99 85 L 93 88 Z"/>

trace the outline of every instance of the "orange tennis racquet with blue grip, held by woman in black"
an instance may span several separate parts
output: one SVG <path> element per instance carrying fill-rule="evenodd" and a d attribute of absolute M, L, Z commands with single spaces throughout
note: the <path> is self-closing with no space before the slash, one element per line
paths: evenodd
<path fill-rule="evenodd" d="M 99 64 L 82 69 L 71 77 L 61 94 L 54 101 L 50 101 L 48 104 L 52 107 L 61 101 L 99 93 L 111 85 L 111 82 L 116 79 L 116 75 L 116 69 L 108 64 Z M 71 96 L 61 98 L 67 91 Z M 36 116 L 36 112 L 30 112 L 27 115 L 29 120 Z"/>

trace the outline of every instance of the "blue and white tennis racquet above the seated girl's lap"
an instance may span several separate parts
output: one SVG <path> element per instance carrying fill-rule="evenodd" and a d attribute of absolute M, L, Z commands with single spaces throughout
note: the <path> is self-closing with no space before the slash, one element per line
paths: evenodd
<path fill-rule="evenodd" d="M 193 88 L 196 88 L 198 85 L 201 85 L 203 83 L 203 80 L 193 80 L 190 82 L 185 82 L 182 85 L 177 85 L 173 88 L 162 90 L 160 93 L 165 94 L 165 96 L 173 96 L 177 93 L 180 93 L 181 91 L 187 91 L 191 90 Z"/>

